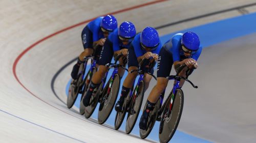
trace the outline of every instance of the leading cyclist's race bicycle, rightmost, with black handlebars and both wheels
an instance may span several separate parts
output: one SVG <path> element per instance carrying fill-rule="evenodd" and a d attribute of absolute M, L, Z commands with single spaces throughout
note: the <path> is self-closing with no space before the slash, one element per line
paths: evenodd
<path fill-rule="evenodd" d="M 181 71 L 185 67 L 185 65 L 182 65 L 177 70 Z M 140 129 L 141 138 L 146 138 L 153 129 L 155 122 L 160 121 L 159 141 L 168 142 L 173 137 L 178 127 L 184 104 L 184 94 L 183 91 L 179 88 L 180 80 L 184 79 L 185 81 L 189 82 L 194 88 L 198 88 L 190 80 L 185 77 L 178 76 L 178 74 L 170 75 L 166 78 L 168 80 L 175 80 L 173 90 L 172 92 L 170 92 L 163 106 L 162 103 L 164 94 L 160 95 L 158 101 L 156 102 L 156 105 L 154 106 L 154 109 L 149 113 L 146 130 Z"/>

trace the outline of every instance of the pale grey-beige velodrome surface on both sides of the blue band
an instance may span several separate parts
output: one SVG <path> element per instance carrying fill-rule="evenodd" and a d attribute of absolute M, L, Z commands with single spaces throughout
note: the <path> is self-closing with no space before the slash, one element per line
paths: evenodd
<path fill-rule="evenodd" d="M 52 77 L 81 51 L 80 32 L 86 22 L 66 31 L 60 30 L 84 20 L 116 12 L 118 21 L 133 21 L 137 30 L 141 31 L 145 25 L 149 25 L 148 23 L 157 27 L 253 3 L 253 1 L 211 1 L 209 5 L 209 2 L 205 1 L 191 1 L 184 7 L 184 2 L 186 1 L 128 1 L 125 4 L 119 1 L 0 2 L 1 15 L 4 17 L 0 23 L 1 140 L 4 142 L 150 141 L 115 131 L 107 125 L 98 125 L 93 120 L 85 120 L 78 115 L 76 108 L 67 109 L 66 105 L 54 96 L 50 85 Z M 109 3 L 112 5 L 108 5 Z M 201 6 L 201 9 L 198 9 L 198 6 Z M 243 12 L 250 13 L 254 9 L 253 5 L 248 6 Z M 160 28 L 159 34 L 164 35 L 238 15 L 241 15 L 241 11 L 237 9 L 223 12 L 221 16 L 217 13 Z M 53 34 L 55 32 L 59 33 Z M 203 50 L 200 70 L 191 76 L 200 89 L 191 90 L 189 87 L 184 87 L 185 94 L 190 93 L 191 96 L 185 97 L 179 130 L 214 142 L 254 141 L 255 37 L 255 34 L 251 34 Z M 54 84 L 57 95 L 63 101 L 67 98 L 65 88 L 70 71 L 71 66 L 63 70 Z"/>

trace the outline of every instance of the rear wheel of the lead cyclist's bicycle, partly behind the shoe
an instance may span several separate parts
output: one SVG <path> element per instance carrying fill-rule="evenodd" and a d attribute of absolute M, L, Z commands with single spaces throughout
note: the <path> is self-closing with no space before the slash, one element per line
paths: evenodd
<path fill-rule="evenodd" d="M 146 124 L 147 125 L 146 130 L 140 129 L 140 137 L 141 138 L 146 138 L 152 131 L 152 129 L 156 123 L 157 117 L 158 117 L 159 107 L 160 107 L 160 99 L 157 100 L 157 103 L 154 106 L 154 109 L 152 111 L 150 111 L 150 113 L 149 113 L 148 121 Z M 146 104 L 145 104 L 144 110 L 145 109 L 146 109 Z"/>

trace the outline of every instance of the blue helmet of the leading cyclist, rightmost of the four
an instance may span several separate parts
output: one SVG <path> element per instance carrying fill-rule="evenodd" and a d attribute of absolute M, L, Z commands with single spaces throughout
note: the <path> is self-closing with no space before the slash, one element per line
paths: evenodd
<path fill-rule="evenodd" d="M 183 44 L 188 50 L 197 51 L 200 46 L 200 40 L 198 35 L 194 32 L 186 32 L 182 35 L 181 44 Z"/>

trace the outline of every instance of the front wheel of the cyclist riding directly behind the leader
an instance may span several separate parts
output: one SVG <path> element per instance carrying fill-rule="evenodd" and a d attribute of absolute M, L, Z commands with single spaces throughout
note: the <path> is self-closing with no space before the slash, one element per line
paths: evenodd
<path fill-rule="evenodd" d="M 131 98 L 131 103 L 130 103 L 127 120 L 126 120 L 126 126 L 125 126 L 125 132 L 127 134 L 132 132 L 134 125 L 138 119 L 141 104 L 143 101 L 143 96 L 144 96 L 144 82 L 142 80 L 140 81 L 139 87 L 136 86 L 133 92 L 133 96 Z"/>

